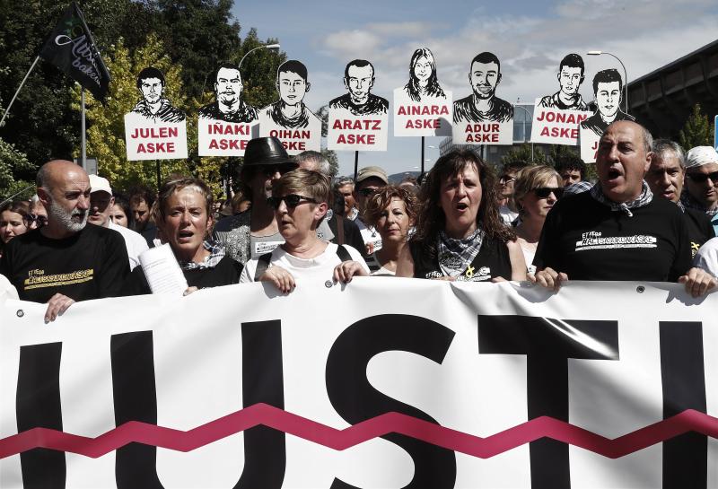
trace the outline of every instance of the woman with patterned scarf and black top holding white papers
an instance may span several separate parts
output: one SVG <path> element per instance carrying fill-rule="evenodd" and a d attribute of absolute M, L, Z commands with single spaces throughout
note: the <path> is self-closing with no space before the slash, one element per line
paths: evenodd
<path fill-rule="evenodd" d="M 238 284 L 242 266 L 224 256 L 215 241 L 206 240 L 212 230 L 212 192 L 200 179 L 179 178 L 160 188 L 154 216 L 162 242 L 170 244 L 189 285 L 185 295 L 197 289 Z M 152 293 L 142 266 L 127 277 L 123 295 Z"/>

